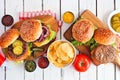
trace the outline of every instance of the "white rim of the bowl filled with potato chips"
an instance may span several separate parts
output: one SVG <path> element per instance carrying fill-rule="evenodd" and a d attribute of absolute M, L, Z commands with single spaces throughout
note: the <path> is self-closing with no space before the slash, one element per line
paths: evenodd
<path fill-rule="evenodd" d="M 51 45 L 53 45 L 53 44 L 56 43 L 56 42 L 67 42 L 68 44 L 70 44 L 70 45 L 72 46 L 72 48 L 73 48 L 73 50 L 74 50 L 74 58 L 72 59 L 71 63 L 65 65 L 64 67 L 69 67 L 69 66 L 71 66 L 71 65 L 73 64 L 75 58 L 76 58 L 76 48 L 72 45 L 72 43 L 70 43 L 70 42 L 67 41 L 67 40 L 56 40 L 56 41 L 54 41 Z M 50 46 L 51 46 L 51 45 L 50 45 Z M 48 50 L 47 50 L 47 57 L 48 57 L 48 54 L 49 54 L 49 52 L 50 52 L 50 51 L 49 51 L 50 46 L 48 47 Z M 49 58 L 48 58 L 48 60 L 49 60 Z M 49 61 L 50 61 L 50 63 L 52 63 L 51 60 L 49 60 Z M 52 65 L 54 65 L 54 66 L 57 67 L 57 68 L 64 68 L 64 67 L 58 67 L 58 66 L 56 66 L 56 65 L 53 64 L 53 63 L 52 63 Z"/>

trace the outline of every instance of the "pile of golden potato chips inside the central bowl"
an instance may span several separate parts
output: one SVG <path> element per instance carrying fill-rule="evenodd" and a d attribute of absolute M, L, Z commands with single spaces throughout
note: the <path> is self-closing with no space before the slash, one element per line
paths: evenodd
<path fill-rule="evenodd" d="M 75 50 L 67 41 L 55 41 L 48 48 L 48 60 L 56 67 L 63 68 L 73 62 Z"/>

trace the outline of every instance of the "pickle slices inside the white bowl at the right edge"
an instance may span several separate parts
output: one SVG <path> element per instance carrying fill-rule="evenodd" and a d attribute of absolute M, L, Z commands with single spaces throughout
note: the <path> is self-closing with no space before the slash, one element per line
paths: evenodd
<path fill-rule="evenodd" d="M 120 13 L 117 13 L 112 16 L 111 26 L 116 32 L 120 33 Z"/>

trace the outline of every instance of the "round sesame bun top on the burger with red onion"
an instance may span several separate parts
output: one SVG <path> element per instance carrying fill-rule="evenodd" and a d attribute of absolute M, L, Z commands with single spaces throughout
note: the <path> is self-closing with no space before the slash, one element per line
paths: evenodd
<path fill-rule="evenodd" d="M 37 40 L 41 33 L 42 26 L 40 20 L 25 20 L 20 27 L 20 36 L 26 42 L 33 42 Z"/>

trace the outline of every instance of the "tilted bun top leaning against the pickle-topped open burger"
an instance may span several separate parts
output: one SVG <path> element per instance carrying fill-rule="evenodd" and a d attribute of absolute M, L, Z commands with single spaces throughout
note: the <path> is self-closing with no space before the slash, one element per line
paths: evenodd
<path fill-rule="evenodd" d="M 19 37 L 19 31 L 17 29 L 9 29 L 0 36 L 0 46 L 7 48 Z"/>

